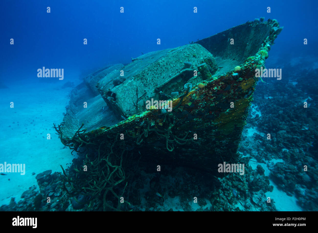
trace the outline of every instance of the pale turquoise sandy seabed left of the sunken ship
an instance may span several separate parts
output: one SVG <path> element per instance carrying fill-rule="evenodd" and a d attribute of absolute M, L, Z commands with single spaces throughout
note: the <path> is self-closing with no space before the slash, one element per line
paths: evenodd
<path fill-rule="evenodd" d="M 18 202 L 30 186 L 38 187 L 35 178 L 38 173 L 61 172 L 60 165 L 66 168 L 72 162 L 70 149 L 62 149 L 64 145 L 52 128 L 53 123 L 62 122 L 69 101 L 67 94 L 71 88 L 61 89 L 64 83 L 20 83 L 0 89 L 0 163 L 25 164 L 25 175 L 0 176 L 0 206 L 9 204 L 11 197 Z M 14 102 L 14 108 L 10 108 L 10 102 Z M 46 139 L 47 133 L 51 134 L 50 140 Z"/>

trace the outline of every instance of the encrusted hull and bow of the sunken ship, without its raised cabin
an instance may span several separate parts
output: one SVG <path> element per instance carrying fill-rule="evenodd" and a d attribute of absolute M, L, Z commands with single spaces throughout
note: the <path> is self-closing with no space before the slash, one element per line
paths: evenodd
<path fill-rule="evenodd" d="M 202 64 L 195 67 L 201 83 L 192 83 L 191 89 L 183 89 L 169 99 L 171 112 L 146 109 L 116 122 L 112 115 L 100 116 L 100 109 L 107 102 L 104 86 L 101 88 L 99 83 L 96 86 L 101 96 L 85 98 L 82 95 L 87 93 L 83 91 L 86 87 L 79 86 L 74 89 L 73 100 L 57 127 L 59 137 L 64 145 L 75 150 L 105 144 L 110 145 L 111 153 L 113 150 L 138 153 L 149 165 L 169 163 L 217 174 L 219 163 L 237 159 L 240 136 L 258 81 L 255 69 L 264 66 L 268 50 L 280 31 L 275 20 L 247 22 L 196 42 L 213 54 L 218 70 L 209 76 Z M 108 89 L 109 96 L 111 93 Z M 94 107 L 83 108 L 83 101 Z M 112 108 L 116 102 L 107 104 Z"/>

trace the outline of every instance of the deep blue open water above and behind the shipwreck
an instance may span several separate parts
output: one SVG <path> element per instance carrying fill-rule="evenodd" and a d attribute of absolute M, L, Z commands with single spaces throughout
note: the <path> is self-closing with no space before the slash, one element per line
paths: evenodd
<path fill-rule="evenodd" d="M 38 82 L 37 69 L 45 66 L 64 68 L 64 79 L 76 80 L 106 64 L 128 63 L 142 52 L 188 44 L 262 16 L 284 26 L 270 57 L 316 56 L 317 12 L 317 1 L 2 0 L 0 79 L 8 86 Z"/>

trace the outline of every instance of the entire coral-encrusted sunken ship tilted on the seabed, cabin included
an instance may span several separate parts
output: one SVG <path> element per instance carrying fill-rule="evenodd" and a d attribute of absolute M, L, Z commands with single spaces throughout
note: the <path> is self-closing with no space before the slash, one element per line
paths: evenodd
<path fill-rule="evenodd" d="M 102 68 L 73 89 L 56 126 L 59 138 L 75 151 L 108 145 L 113 156 L 128 151 L 151 166 L 169 163 L 217 175 L 218 164 L 237 161 L 259 81 L 255 69 L 264 66 L 281 29 L 276 20 L 247 22 Z M 168 102 L 147 109 L 150 99 Z M 125 162 L 134 164 L 132 158 Z"/>

